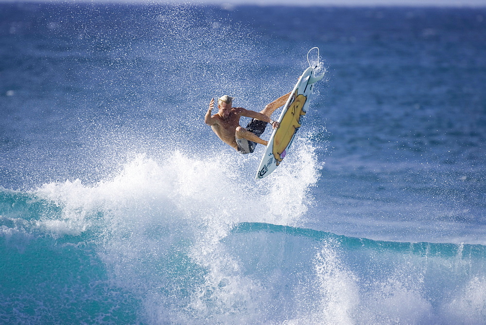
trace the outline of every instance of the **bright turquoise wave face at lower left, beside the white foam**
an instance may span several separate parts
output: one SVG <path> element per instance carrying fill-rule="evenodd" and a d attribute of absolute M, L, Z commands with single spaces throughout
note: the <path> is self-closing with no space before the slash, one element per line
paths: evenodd
<path fill-rule="evenodd" d="M 0 323 L 134 323 L 139 301 L 113 286 L 93 237 L 37 227 L 63 207 L 0 188 Z"/>

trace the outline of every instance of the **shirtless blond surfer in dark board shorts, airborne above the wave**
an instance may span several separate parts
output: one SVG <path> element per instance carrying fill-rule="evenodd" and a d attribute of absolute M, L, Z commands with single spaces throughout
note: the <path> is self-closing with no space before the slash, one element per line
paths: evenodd
<path fill-rule="evenodd" d="M 267 145 L 268 141 L 260 138 L 265 131 L 267 123 L 273 128 L 280 124 L 273 121 L 270 116 L 279 107 L 283 106 L 290 96 L 278 97 L 276 100 L 265 106 L 260 112 L 248 110 L 242 107 L 233 107 L 233 98 L 224 95 L 218 99 L 218 112 L 211 116 L 214 108 L 214 98 L 209 103 L 209 109 L 204 117 L 204 123 L 211 126 L 216 135 L 226 144 L 229 144 L 242 154 L 252 153 L 257 144 Z M 251 117 L 252 120 L 245 127 L 240 126 L 242 116 Z"/>

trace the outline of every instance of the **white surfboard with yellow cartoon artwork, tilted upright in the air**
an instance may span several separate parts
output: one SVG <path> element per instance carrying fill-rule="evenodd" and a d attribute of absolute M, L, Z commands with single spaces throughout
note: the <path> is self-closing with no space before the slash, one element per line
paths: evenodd
<path fill-rule="evenodd" d="M 270 136 L 258 167 L 256 180 L 270 175 L 287 156 L 295 134 L 302 125 L 309 108 L 314 83 L 321 80 L 322 77 L 324 77 L 324 73 L 319 76 L 314 75 L 313 67 L 307 68 L 300 76 L 278 118 L 280 127 L 274 129 Z"/>

